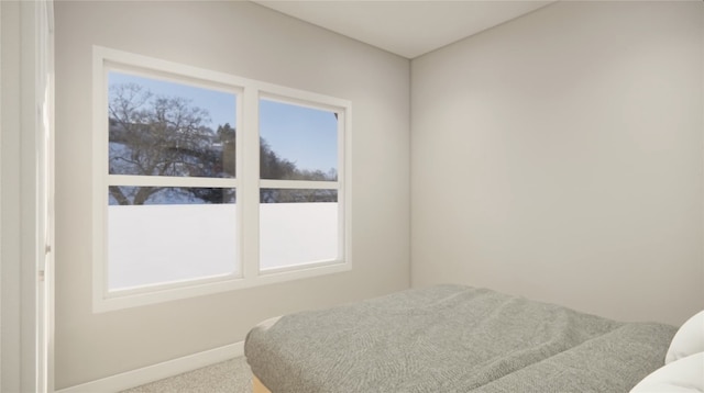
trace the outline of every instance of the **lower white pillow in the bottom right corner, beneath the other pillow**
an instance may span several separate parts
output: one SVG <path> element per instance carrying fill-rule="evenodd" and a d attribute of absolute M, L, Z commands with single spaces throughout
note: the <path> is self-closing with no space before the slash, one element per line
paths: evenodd
<path fill-rule="evenodd" d="M 704 352 L 666 364 L 638 382 L 630 393 L 704 391 Z"/>

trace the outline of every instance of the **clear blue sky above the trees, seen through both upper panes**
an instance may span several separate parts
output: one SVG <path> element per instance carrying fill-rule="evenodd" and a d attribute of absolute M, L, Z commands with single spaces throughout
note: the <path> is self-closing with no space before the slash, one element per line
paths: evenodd
<path fill-rule="evenodd" d="M 138 83 L 156 96 L 183 97 L 210 113 L 218 125 L 237 124 L 237 96 L 218 90 L 111 71 L 109 83 Z M 268 100 L 260 101 L 260 134 L 276 154 L 299 169 L 338 168 L 338 123 L 328 111 Z"/>

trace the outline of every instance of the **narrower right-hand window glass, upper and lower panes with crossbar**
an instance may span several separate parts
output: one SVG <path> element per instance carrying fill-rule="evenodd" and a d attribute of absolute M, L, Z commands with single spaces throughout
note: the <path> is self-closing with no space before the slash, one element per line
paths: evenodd
<path fill-rule="evenodd" d="M 260 100 L 260 268 L 338 259 L 338 114 Z"/>

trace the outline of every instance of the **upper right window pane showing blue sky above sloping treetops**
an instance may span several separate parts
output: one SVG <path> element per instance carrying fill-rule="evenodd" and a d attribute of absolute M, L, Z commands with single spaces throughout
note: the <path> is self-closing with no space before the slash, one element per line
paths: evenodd
<path fill-rule="evenodd" d="M 262 179 L 338 179 L 337 113 L 260 100 Z"/>

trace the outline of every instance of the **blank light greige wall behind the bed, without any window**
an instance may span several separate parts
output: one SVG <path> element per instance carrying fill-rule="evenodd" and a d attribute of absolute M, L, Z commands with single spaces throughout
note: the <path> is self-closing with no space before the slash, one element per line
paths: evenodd
<path fill-rule="evenodd" d="M 413 285 L 704 308 L 703 9 L 560 2 L 413 60 Z"/>

